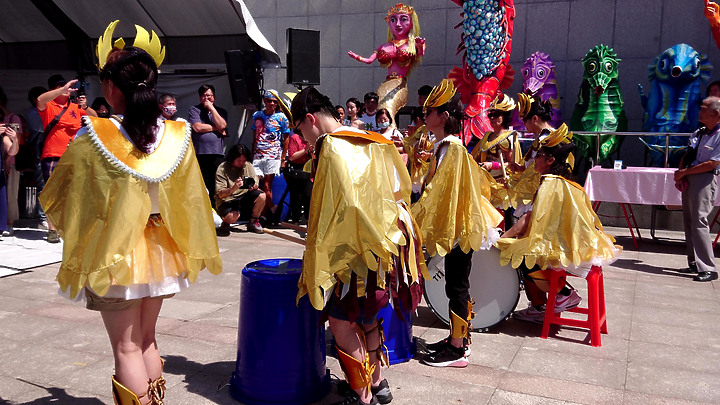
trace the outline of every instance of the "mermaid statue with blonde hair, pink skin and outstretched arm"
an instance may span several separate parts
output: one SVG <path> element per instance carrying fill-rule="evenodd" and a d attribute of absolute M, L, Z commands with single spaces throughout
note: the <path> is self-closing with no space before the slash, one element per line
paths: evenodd
<path fill-rule="evenodd" d="M 407 77 L 425 54 L 425 38 L 420 38 L 417 13 L 411 6 L 398 3 L 388 10 L 386 43 L 380 45 L 370 57 L 363 58 L 348 51 L 351 58 L 371 64 L 377 60 L 387 67 L 388 75 L 378 87 L 378 109 L 387 108 L 392 117 L 407 103 Z"/>

